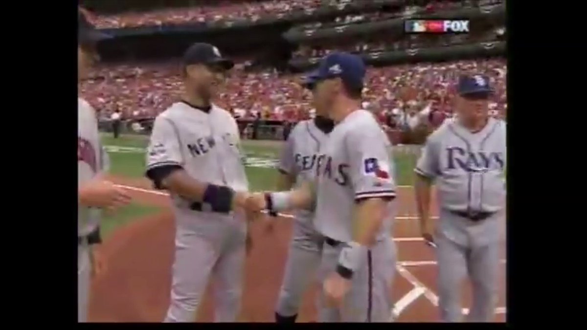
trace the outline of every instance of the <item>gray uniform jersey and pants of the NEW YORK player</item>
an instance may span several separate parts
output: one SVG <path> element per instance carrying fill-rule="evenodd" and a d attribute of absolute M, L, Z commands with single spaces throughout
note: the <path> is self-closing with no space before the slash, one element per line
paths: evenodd
<path fill-rule="evenodd" d="M 157 116 L 147 170 L 180 165 L 194 179 L 247 191 L 237 123 L 226 110 L 210 112 L 178 102 Z M 235 321 L 241 300 L 246 223 L 240 212 L 212 213 L 202 203 L 171 193 L 176 215 L 176 253 L 166 322 L 193 321 L 210 275 L 217 286 L 217 321 Z"/>

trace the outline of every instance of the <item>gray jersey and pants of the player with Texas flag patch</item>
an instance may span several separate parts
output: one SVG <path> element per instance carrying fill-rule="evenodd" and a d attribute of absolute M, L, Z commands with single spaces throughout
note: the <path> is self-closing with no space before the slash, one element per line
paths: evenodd
<path fill-rule="evenodd" d="M 346 116 L 330 132 L 316 159 L 315 227 L 326 237 L 320 277 L 336 269 L 345 243 L 353 241 L 353 208 L 362 198 L 395 197 L 392 146 L 375 117 L 366 110 Z M 352 278 L 341 309 L 328 307 L 319 297 L 322 322 L 387 322 L 392 309 L 389 289 L 395 272 L 395 248 L 391 238 L 394 204 Z"/>

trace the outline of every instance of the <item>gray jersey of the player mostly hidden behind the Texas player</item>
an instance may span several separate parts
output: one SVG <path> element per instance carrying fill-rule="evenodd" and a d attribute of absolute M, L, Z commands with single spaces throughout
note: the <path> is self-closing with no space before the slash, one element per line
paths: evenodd
<path fill-rule="evenodd" d="M 324 140 L 328 137 L 313 120 L 303 120 L 296 124 L 285 142 L 279 160 L 279 170 L 296 177 L 296 186 L 302 182 L 314 181 L 316 177 L 316 158 Z M 313 212 L 299 210 L 296 220 L 312 223 Z"/>

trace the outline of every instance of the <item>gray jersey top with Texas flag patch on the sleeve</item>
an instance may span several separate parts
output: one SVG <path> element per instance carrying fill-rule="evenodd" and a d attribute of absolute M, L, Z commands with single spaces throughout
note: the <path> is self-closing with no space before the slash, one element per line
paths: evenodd
<path fill-rule="evenodd" d="M 316 159 L 316 229 L 352 241 L 355 201 L 396 196 L 392 162 L 392 145 L 370 112 L 356 110 L 337 124 Z M 391 220 L 377 238 L 389 237 Z"/>

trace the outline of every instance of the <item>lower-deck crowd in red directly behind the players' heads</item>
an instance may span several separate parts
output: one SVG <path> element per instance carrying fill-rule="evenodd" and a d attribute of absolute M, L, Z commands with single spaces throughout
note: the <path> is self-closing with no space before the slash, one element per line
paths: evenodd
<path fill-rule="evenodd" d="M 380 113 L 382 120 L 387 116 L 390 126 L 406 123 L 410 114 L 427 106 L 450 116 L 456 95 L 454 83 L 465 72 L 491 77 L 495 86 L 491 109 L 504 115 L 507 110 L 504 59 L 369 68 L 363 106 Z M 216 102 L 235 117 L 261 116 L 296 122 L 313 113 L 310 95 L 299 85 L 301 79 L 302 75 L 279 75 L 272 70 L 246 72 L 242 64 L 237 65 Z M 81 86 L 83 96 L 99 110 L 101 117 L 121 110 L 126 119 L 155 116 L 180 98 L 182 88 L 178 66 L 171 63 L 103 66 Z"/>

